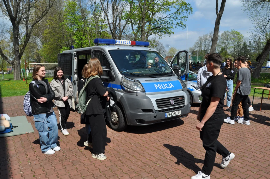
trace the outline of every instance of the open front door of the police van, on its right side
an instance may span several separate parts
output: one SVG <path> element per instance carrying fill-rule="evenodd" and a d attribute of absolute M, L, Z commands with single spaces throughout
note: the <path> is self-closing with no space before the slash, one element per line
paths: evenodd
<path fill-rule="evenodd" d="M 186 50 L 178 51 L 173 59 L 170 61 L 171 68 L 179 68 L 179 73 L 177 74 L 185 83 L 188 80 L 188 52 Z"/>

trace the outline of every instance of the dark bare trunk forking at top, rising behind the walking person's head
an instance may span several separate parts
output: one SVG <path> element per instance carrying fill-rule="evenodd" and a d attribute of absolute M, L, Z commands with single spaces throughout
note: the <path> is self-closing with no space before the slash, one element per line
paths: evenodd
<path fill-rule="evenodd" d="M 210 53 L 215 53 L 216 52 L 216 47 L 217 47 L 217 42 L 218 42 L 218 31 L 219 31 L 219 26 L 220 26 L 220 20 L 221 20 L 221 17 L 222 17 L 224 8 L 225 8 L 225 3 L 226 3 L 226 0 L 222 0 L 221 1 L 220 11 L 218 11 L 218 0 L 216 0 L 216 14 L 217 14 L 217 18 L 216 18 L 216 21 L 215 21 L 214 34 L 213 34 L 213 39 L 212 39 Z"/>

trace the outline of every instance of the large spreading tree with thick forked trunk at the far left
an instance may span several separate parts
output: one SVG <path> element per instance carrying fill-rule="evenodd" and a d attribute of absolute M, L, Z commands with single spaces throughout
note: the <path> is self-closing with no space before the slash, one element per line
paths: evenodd
<path fill-rule="evenodd" d="M 13 28 L 14 60 L 4 54 L 1 46 L 0 55 L 13 67 L 14 80 L 21 80 L 21 58 L 34 26 L 49 12 L 53 3 L 54 0 L 2 1 L 2 13 L 10 20 Z"/>

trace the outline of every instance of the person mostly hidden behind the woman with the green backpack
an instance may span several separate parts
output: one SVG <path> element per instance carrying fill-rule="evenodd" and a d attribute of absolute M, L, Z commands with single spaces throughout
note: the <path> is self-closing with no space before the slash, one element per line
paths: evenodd
<path fill-rule="evenodd" d="M 82 90 L 87 77 L 88 77 L 88 64 L 85 64 L 82 70 L 82 79 L 80 79 L 80 81 L 78 82 L 77 97 L 80 94 L 80 91 Z M 86 120 L 85 114 L 81 114 L 81 124 L 85 124 L 85 130 L 86 130 L 86 135 L 87 135 L 87 140 L 83 144 L 87 147 L 92 147 L 92 143 L 88 142 L 89 134 L 91 132 L 90 123 L 89 123 L 89 120 Z"/>

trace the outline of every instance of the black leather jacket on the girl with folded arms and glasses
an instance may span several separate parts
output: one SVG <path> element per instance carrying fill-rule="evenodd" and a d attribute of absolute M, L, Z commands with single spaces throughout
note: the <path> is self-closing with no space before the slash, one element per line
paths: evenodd
<path fill-rule="evenodd" d="M 50 109 L 52 109 L 52 106 L 55 106 L 52 100 L 55 97 L 54 92 L 52 91 L 52 88 L 49 85 L 48 80 L 43 80 L 47 84 L 48 93 L 46 94 L 46 88 L 45 86 L 40 83 L 38 80 L 35 80 L 36 84 L 39 85 L 39 88 L 34 84 L 29 84 L 29 91 L 30 91 L 30 103 L 32 106 L 32 113 L 33 114 L 39 114 L 39 113 L 46 113 L 50 112 Z M 39 98 L 47 98 L 47 102 L 45 103 L 39 103 L 37 99 Z"/>

